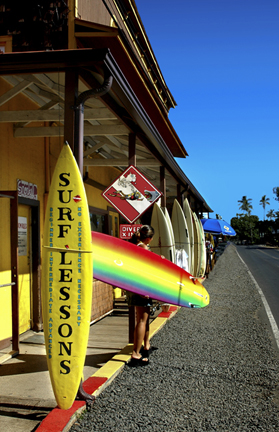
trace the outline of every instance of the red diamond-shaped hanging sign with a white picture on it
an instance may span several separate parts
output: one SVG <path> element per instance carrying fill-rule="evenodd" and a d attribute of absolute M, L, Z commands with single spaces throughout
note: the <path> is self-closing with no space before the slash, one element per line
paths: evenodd
<path fill-rule="evenodd" d="M 162 193 L 131 165 L 102 195 L 128 222 L 133 223 Z"/>

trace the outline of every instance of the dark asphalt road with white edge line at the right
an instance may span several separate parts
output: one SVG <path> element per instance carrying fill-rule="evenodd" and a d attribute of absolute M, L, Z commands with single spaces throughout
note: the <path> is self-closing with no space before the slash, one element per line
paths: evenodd
<path fill-rule="evenodd" d="M 237 246 L 256 279 L 279 327 L 279 250 L 264 246 Z"/>

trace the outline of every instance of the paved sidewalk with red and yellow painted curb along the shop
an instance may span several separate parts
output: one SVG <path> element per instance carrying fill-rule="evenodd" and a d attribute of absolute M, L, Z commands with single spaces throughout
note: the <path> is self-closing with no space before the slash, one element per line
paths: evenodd
<path fill-rule="evenodd" d="M 173 315 L 156 311 L 151 319 L 155 334 Z M 132 347 L 128 342 L 128 314 L 108 315 L 90 328 L 83 387 L 98 395 L 124 367 Z M 9 353 L 11 347 L 0 351 Z M 71 410 L 56 408 L 47 369 L 43 333 L 27 332 L 20 354 L 0 365 L 0 424 L 5 432 L 67 430 L 75 415 L 86 408 L 76 401 Z M 71 421 L 72 418 L 72 421 Z"/>

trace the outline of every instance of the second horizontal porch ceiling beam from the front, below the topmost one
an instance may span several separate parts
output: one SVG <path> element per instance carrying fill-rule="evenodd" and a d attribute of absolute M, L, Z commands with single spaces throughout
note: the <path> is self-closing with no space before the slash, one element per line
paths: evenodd
<path fill-rule="evenodd" d="M 73 111 L 73 110 L 72 110 Z M 66 111 L 65 111 L 65 120 L 67 121 Z M 84 135 L 89 136 L 102 136 L 102 135 L 123 135 L 124 133 L 128 133 L 127 128 L 123 125 L 98 125 L 84 126 Z M 27 127 L 27 128 L 19 128 L 14 131 L 14 136 L 16 138 L 32 138 L 32 137 L 59 137 L 64 134 L 63 128 L 59 126 L 52 127 Z M 66 134 L 65 134 L 66 135 Z M 66 139 L 66 138 L 65 138 Z"/>

